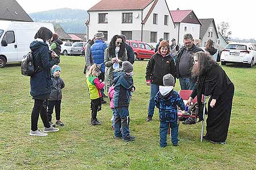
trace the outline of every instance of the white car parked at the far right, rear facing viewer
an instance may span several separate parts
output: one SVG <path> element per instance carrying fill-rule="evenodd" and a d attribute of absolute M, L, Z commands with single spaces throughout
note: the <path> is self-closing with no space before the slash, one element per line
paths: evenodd
<path fill-rule="evenodd" d="M 232 42 L 226 45 L 221 53 L 221 65 L 226 63 L 245 63 L 253 67 L 256 63 L 256 49 L 254 44 Z"/>

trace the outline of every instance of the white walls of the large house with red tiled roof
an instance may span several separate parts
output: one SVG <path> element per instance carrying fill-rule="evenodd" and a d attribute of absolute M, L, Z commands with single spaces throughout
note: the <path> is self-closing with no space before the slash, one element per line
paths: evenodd
<path fill-rule="evenodd" d="M 143 25 L 142 30 L 142 20 L 146 17 L 148 11 L 153 5 L 154 1 L 141 10 L 123 10 L 123 11 L 88 11 L 89 12 L 89 29 L 88 29 L 88 39 L 92 39 L 93 35 L 97 31 L 108 31 L 108 42 L 112 39 L 114 35 L 121 34 L 121 31 L 132 31 L 134 40 L 141 40 L 155 46 L 157 42 L 150 42 L 150 32 L 157 32 L 157 41 L 163 36 L 164 32 L 169 33 L 171 40 L 173 37 L 177 37 L 177 33 L 174 29 L 174 23 L 172 22 L 170 12 L 165 0 L 159 0 L 156 3 L 154 10 L 151 12 L 147 22 Z M 122 23 L 122 13 L 123 12 L 133 12 L 133 23 Z M 108 23 L 98 23 L 98 14 L 108 13 Z M 158 24 L 153 24 L 153 14 L 158 14 Z M 138 15 L 138 18 L 135 16 Z M 168 15 L 168 25 L 164 25 L 164 15 Z"/>

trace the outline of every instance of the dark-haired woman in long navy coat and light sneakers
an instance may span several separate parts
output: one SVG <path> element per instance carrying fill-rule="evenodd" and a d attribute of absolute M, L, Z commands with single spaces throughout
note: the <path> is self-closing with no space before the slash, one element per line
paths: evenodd
<path fill-rule="evenodd" d="M 30 94 L 34 99 L 34 107 L 31 114 L 31 130 L 30 135 L 46 136 L 38 129 L 39 114 L 44 124 L 44 132 L 59 131 L 49 125 L 47 120 L 47 99 L 51 92 L 51 67 L 60 62 L 59 56 L 55 52 L 50 52 L 46 41 L 50 41 L 52 32 L 41 27 L 36 32 L 35 40 L 31 42 L 30 49 L 34 59 L 35 73 L 30 78 Z"/>

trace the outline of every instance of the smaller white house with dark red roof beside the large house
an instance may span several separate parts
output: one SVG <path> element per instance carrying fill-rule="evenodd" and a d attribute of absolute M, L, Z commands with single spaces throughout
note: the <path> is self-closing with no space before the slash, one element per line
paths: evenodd
<path fill-rule="evenodd" d="M 177 44 L 183 45 L 183 36 L 186 33 L 191 33 L 193 39 L 199 39 L 201 23 L 193 10 L 177 9 L 170 12 L 176 27 Z"/>

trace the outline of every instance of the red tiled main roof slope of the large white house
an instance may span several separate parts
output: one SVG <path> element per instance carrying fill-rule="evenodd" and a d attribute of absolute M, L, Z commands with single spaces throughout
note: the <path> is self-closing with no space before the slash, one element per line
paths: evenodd
<path fill-rule="evenodd" d="M 155 0 L 101 0 L 88 11 L 143 10 Z"/>

